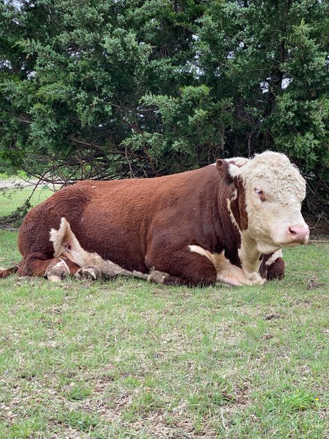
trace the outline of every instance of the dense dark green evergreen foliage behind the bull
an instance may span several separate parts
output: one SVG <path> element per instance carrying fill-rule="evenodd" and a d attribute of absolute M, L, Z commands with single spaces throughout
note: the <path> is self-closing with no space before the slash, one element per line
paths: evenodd
<path fill-rule="evenodd" d="M 328 48 L 328 1 L 1 1 L 0 158 L 99 179 L 274 149 L 326 210 Z"/>

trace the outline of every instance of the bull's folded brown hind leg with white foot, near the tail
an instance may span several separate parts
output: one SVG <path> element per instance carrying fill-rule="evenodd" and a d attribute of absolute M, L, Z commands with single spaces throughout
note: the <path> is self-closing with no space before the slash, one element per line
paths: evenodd
<path fill-rule="evenodd" d="M 17 274 L 19 276 L 47 277 L 51 281 L 61 281 L 65 276 L 75 274 L 80 267 L 67 258 L 47 258 L 40 253 L 24 256 Z"/>

